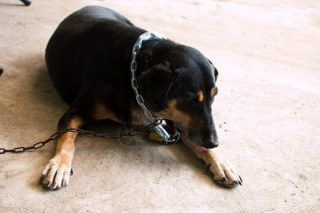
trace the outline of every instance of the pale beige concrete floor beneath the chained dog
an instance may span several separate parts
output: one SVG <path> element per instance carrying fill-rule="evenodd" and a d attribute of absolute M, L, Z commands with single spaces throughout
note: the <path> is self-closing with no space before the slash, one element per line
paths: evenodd
<path fill-rule="evenodd" d="M 221 187 L 183 143 L 79 136 L 70 185 L 41 185 L 55 142 L 0 155 L 0 212 L 319 212 L 320 1 L 0 1 L 0 148 L 56 131 L 68 105 L 44 62 L 58 23 L 87 5 L 191 45 L 220 75 L 218 151 L 243 179 Z M 123 131 L 100 122 L 87 129 Z"/>

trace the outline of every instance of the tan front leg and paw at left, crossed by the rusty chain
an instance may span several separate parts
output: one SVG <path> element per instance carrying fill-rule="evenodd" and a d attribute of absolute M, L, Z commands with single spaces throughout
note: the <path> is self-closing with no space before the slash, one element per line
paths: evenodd
<path fill-rule="evenodd" d="M 70 113 L 70 109 L 60 119 L 58 130 L 67 128 L 80 128 L 84 125 L 84 120 L 78 114 Z M 49 160 L 41 176 L 41 182 L 50 190 L 59 189 L 68 185 L 71 173 L 71 163 L 75 151 L 75 137 L 77 133 L 67 132 L 60 136 L 55 148 L 54 157 Z"/>

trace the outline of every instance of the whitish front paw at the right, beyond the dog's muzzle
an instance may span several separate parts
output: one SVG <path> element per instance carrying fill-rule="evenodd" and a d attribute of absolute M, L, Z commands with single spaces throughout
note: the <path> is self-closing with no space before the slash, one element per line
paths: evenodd
<path fill-rule="evenodd" d="M 221 158 L 210 159 L 206 162 L 206 168 L 213 173 L 215 182 L 228 187 L 242 185 L 242 178 L 238 171 L 227 160 Z"/>

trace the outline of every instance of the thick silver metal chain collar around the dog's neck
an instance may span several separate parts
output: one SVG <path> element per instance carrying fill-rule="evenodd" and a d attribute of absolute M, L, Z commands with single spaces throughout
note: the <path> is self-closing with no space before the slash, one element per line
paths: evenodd
<path fill-rule="evenodd" d="M 136 43 L 134 43 L 134 47 L 132 48 L 132 55 L 131 55 L 131 84 L 132 89 L 134 89 L 134 94 L 136 95 L 136 99 L 138 104 L 142 107 L 144 111 L 144 115 L 146 116 L 146 119 L 150 123 L 154 123 L 156 119 L 154 118 L 154 115 L 149 111 L 149 109 L 146 108 L 146 104 L 144 103 L 144 99 L 141 94 L 139 94 L 138 91 L 138 82 L 136 78 L 136 70 L 137 70 L 137 54 L 142 47 L 142 44 L 145 43 L 147 40 L 153 40 L 153 39 L 166 39 L 164 36 L 159 35 L 157 33 L 152 32 L 146 32 L 139 36 Z M 154 130 L 156 133 L 159 134 L 159 136 L 166 142 L 166 143 L 176 143 L 178 139 L 180 138 L 180 133 L 176 130 L 174 132 L 174 136 L 171 136 L 161 124 L 154 126 Z"/>

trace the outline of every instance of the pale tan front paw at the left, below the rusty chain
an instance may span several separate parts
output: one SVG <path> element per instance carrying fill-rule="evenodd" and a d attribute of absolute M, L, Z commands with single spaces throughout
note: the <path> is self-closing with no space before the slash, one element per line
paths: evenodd
<path fill-rule="evenodd" d="M 71 160 L 55 156 L 49 160 L 40 181 L 50 190 L 58 190 L 68 185 L 72 173 Z"/>

